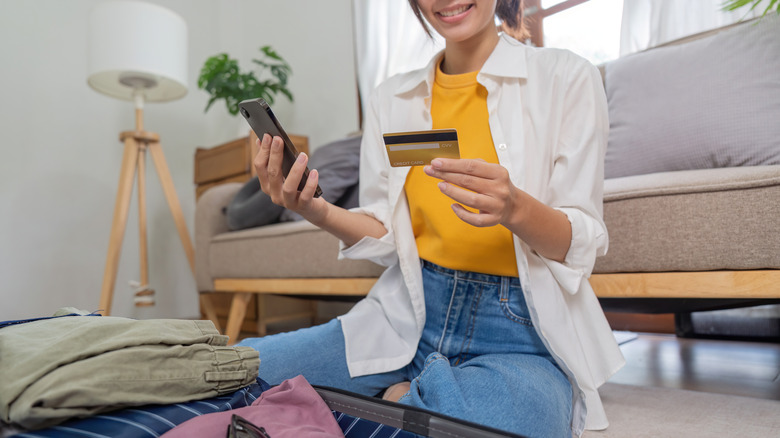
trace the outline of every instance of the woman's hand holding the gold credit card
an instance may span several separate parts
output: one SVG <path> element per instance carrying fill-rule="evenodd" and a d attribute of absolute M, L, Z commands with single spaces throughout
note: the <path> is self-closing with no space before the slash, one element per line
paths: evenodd
<path fill-rule="evenodd" d="M 423 169 L 442 181 L 439 190 L 452 198 L 455 214 L 476 227 L 508 225 L 518 213 L 520 189 L 499 164 L 481 159 L 435 158 Z M 467 210 L 464 206 L 476 210 Z"/>

